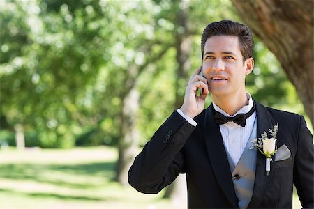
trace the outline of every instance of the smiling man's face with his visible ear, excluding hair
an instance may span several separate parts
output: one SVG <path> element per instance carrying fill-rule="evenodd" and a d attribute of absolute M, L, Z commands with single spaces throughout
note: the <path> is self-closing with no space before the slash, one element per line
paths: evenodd
<path fill-rule="evenodd" d="M 203 75 L 214 96 L 237 96 L 245 92 L 245 77 L 253 59 L 243 61 L 237 36 L 211 36 L 204 45 Z"/>

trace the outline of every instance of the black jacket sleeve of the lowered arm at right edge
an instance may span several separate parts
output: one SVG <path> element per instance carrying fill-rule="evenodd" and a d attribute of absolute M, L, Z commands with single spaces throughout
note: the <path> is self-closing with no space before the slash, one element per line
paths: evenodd
<path fill-rule="evenodd" d="M 294 160 L 294 185 L 303 208 L 314 208 L 313 136 L 300 117 L 299 139 Z"/>

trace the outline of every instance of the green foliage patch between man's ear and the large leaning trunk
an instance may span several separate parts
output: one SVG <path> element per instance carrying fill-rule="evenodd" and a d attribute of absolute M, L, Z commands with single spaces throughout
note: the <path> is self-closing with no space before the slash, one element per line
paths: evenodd
<path fill-rule="evenodd" d="M 287 80 L 280 63 L 267 47 L 255 38 L 255 67 L 246 78 L 248 92 L 258 102 L 270 107 L 305 114 L 294 86 Z M 293 109 L 292 109 L 293 107 Z"/>

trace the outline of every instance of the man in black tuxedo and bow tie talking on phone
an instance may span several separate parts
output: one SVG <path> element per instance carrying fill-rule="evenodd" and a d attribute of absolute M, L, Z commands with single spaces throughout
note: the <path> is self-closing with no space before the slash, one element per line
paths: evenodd
<path fill-rule="evenodd" d="M 158 193 L 186 173 L 188 208 L 292 208 L 294 184 L 302 206 L 314 208 L 313 136 L 304 118 L 264 107 L 246 93 L 254 67 L 249 29 L 213 22 L 201 48 L 202 67 L 188 82 L 184 104 L 137 155 L 130 185 Z M 213 104 L 204 109 L 209 92 Z M 269 168 L 262 148 L 251 148 L 264 131 L 278 148 Z"/>

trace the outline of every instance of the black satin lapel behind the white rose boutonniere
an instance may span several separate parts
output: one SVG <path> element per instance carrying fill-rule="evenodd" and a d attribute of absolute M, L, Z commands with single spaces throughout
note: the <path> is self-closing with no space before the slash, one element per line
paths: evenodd
<path fill-rule="evenodd" d="M 264 131 L 268 132 L 269 128 L 274 127 L 274 123 L 267 109 L 262 106 L 262 104 L 258 104 L 257 102 L 255 102 L 255 104 L 257 112 L 257 138 L 260 138 Z M 257 151 L 253 196 L 248 204 L 248 208 L 258 208 L 271 183 L 274 163 L 271 162 L 271 171 L 269 172 L 269 176 L 267 176 L 265 171 L 265 159 L 265 155 Z"/>

